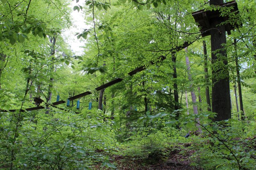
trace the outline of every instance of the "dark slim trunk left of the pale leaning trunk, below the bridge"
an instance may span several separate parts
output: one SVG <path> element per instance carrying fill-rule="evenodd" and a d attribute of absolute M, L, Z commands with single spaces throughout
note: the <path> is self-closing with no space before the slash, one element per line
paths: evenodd
<path fill-rule="evenodd" d="M 179 94 L 178 94 L 178 85 L 177 85 L 176 54 L 175 54 L 175 52 L 172 52 L 172 64 L 173 64 L 174 109 L 178 110 L 180 107 L 179 107 Z M 177 113 L 176 117 L 179 117 L 179 113 Z"/>

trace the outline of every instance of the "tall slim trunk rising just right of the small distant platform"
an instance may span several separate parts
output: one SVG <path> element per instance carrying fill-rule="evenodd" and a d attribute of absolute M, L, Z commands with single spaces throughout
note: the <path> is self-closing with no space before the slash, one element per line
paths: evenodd
<path fill-rule="evenodd" d="M 52 60 L 51 62 L 53 62 L 54 60 L 54 54 L 55 54 L 55 44 L 56 44 L 56 38 L 55 35 L 53 37 L 50 37 L 50 42 L 52 43 L 51 46 L 51 56 L 52 56 Z M 54 64 L 52 63 L 51 67 L 50 67 L 50 74 L 52 74 L 52 72 L 54 71 Z M 51 75 L 52 76 L 52 75 Z M 47 97 L 46 97 L 46 103 L 48 103 L 49 101 L 52 100 L 52 92 L 51 92 L 51 88 L 52 88 L 52 83 L 53 83 L 53 78 L 50 78 L 50 83 L 49 83 L 49 88 L 48 88 L 48 93 L 47 93 Z M 73 100 L 72 100 L 73 102 Z M 45 114 L 49 114 L 49 107 L 46 107 L 46 111 Z"/>

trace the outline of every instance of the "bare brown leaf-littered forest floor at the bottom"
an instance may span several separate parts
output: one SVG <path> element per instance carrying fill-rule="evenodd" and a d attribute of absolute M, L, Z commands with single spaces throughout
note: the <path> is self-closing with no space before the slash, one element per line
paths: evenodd
<path fill-rule="evenodd" d="M 181 144 L 182 145 L 182 144 Z M 167 148 L 168 150 L 168 148 Z M 110 162 L 113 163 L 118 170 L 193 170 L 195 167 L 190 166 L 190 156 L 195 151 L 188 148 L 176 147 L 169 151 L 164 160 L 154 162 L 154 164 L 146 163 L 147 160 L 132 158 L 124 155 L 111 155 Z M 150 158 L 148 158 L 150 159 Z M 106 169 L 95 166 L 95 169 Z"/>

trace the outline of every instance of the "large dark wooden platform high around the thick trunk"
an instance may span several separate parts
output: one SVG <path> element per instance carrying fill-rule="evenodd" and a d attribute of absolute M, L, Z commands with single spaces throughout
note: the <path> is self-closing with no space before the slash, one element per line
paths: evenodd
<path fill-rule="evenodd" d="M 232 6 L 234 9 L 232 9 L 230 11 L 230 13 L 235 12 L 235 15 L 239 14 L 239 10 L 238 10 L 236 1 L 230 1 L 230 2 L 222 4 L 220 6 L 221 7 L 231 7 Z M 229 19 L 229 16 L 221 17 L 220 13 L 221 12 L 218 10 L 216 10 L 216 11 L 200 10 L 200 11 L 192 12 L 192 16 L 194 17 L 196 23 L 198 24 L 199 30 L 201 32 L 204 32 L 204 31 L 210 29 L 210 22 L 211 22 L 212 18 L 219 17 L 223 20 L 223 22 L 225 22 Z M 238 23 L 232 23 L 232 24 L 228 23 L 225 25 L 228 35 L 231 34 L 231 30 L 234 30 L 235 28 L 238 28 L 240 26 L 242 26 L 242 23 L 239 23 L 239 24 Z M 202 37 L 205 37 L 208 35 L 210 35 L 209 31 L 203 33 Z"/>

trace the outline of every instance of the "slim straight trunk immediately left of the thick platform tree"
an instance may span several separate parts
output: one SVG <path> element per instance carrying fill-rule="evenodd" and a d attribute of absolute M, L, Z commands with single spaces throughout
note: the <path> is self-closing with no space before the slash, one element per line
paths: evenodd
<path fill-rule="evenodd" d="M 207 110 L 209 112 L 212 111 L 211 108 L 211 99 L 210 99 L 210 92 L 209 92 L 209 84 L 210 84 L 210 80 L 209 80 L 209 75 L 208 75 L 208 60 L 207 60 L 207 49 L 206 49 L 206 43 L 205 41 L 203 41 L 203 48 L 204 48 L 204 78 L 206 81 L 206 86 L 205 86 L 205 97 L 206 97 L 206 103 L 207 103 Z"/>

